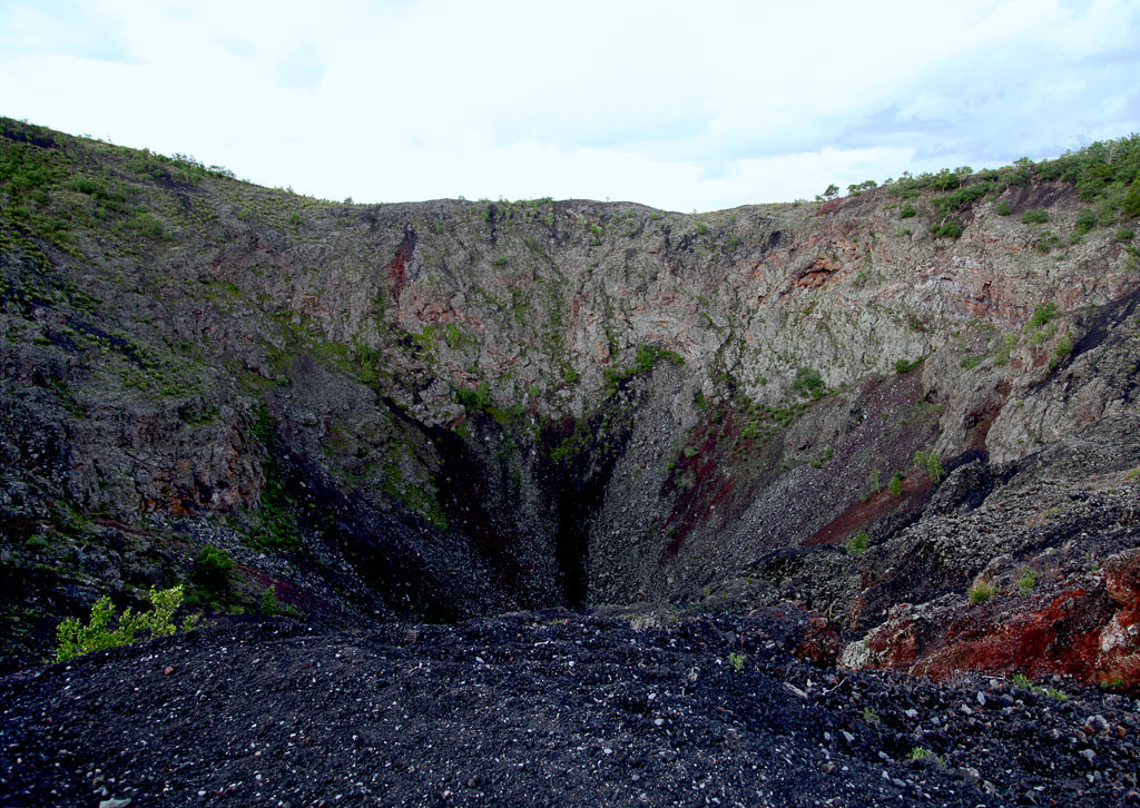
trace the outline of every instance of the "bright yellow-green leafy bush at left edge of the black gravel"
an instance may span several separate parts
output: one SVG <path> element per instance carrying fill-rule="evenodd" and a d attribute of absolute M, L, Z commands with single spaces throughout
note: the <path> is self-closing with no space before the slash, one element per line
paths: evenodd
<path fill-rule="evenodd" d="M 111 623 L 115 618 L 115 606 L 111 598 L 104 595 L 91 606 L 91 619 L 87 626 L 79 618 L 67 618 L 56 627 L 56 661 L 66 660 L 120 645 L 137 642 L 140 631 L 153 637 L 169 637 L 174 634 L 174 612 L 182 605 L 182 585 L 170 589 L 150 589 L 147 595 L 150 610 L 136 614 L 128 607 L 120 617 L 115 628 Z M 184 631 L 197 628 L 199 615 L 192 614 L 182 620 Z"/>

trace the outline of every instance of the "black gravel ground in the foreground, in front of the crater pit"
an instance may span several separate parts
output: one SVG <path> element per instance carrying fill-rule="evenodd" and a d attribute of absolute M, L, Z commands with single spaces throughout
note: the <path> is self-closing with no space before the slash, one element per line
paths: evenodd
<path fill-rule="evenodd" d="M 1140 803 L 1129 697 L 815 669 L 774 614 L 632 622 L 267 622 L 27 669 L 0 805 Z"/>

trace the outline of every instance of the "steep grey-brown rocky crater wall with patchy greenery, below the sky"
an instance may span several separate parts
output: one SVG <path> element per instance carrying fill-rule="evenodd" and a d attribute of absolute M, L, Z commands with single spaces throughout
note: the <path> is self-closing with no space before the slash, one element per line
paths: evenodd
<path fill-rule="evenodd" d="M 942 623 L 983 571 L 1064 556 L 1061 587 L 1107 547 L 1085 525 L 1135 507 L 1140 269 L 1115 227 L 1069 239 L 1072 183 L 974 201 L 952 238 L 929 189 L 906 219 L 889 189 L 334 205 L 3 134 L 38 172 L 0 220 L 11 625 L 212 544 L 230 607 L 269 585 L 340 622 L 790 599 L 854 642 L 899 602 Z M 914 468 L 930 450 L 945 480 Z M 1026 538 L 1077 490 L 1088 514 Z M 833 549 L 860 530 L 869 553 Z"/>

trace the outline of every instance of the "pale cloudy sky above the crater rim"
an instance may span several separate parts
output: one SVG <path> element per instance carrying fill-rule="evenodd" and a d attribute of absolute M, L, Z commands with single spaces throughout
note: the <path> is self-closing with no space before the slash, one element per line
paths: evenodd
<path fill-rule="evenodd" d="M 327 199 L 814 198 L 1140 132 L 1138 0 L 0 0 L 0 115 Z"/>

